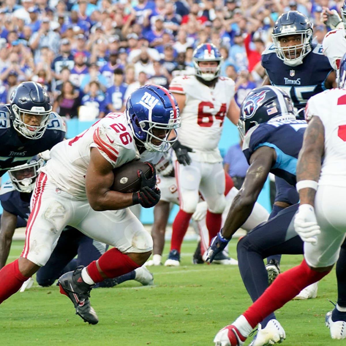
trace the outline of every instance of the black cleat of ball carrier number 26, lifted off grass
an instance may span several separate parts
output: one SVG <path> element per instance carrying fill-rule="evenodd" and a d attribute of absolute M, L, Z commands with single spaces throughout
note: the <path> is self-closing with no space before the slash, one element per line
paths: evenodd
<path fill-rule="evenodd" d="M 84 322 L 97 324 L 99 321 L 95 310 L 90 306 L 90 291 L 94 285 L 88 285 L 82 279 L 83 266 L 77 267 L 73 272 L 67 272 L 58 279 L 60 293 L 67 295 Z"/>

